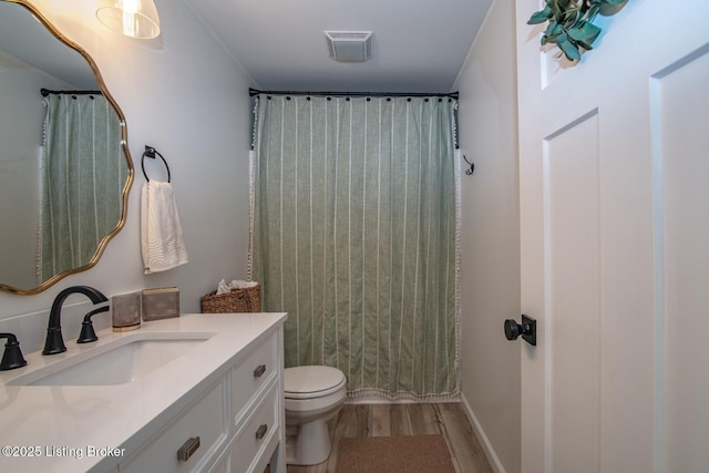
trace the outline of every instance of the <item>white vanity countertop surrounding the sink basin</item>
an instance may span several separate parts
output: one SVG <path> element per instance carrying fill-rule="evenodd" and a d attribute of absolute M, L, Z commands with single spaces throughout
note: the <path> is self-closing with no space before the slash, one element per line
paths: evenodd
<path fill-rule="evenodd" d="M 130 332 L 103 330 L 93 343 L 66 341 L 68 350 L 60 354 L 24 353 L 27 367 L 0 371 L 0 471 L 111 471 L 239 358 L 274 333 L 285 319 L 285 313 L 193 313 L 143 322 L 138 330 Z M 6 384 L 123 337 L 187 331 L 214 335 L 189 356 L 126 384 Z M 8 448 L 20 456 L 7 456 Z M 31 453 L 37 456 L 28 457 Z M 116 456 L 105 456 L 106 453 Z"/>

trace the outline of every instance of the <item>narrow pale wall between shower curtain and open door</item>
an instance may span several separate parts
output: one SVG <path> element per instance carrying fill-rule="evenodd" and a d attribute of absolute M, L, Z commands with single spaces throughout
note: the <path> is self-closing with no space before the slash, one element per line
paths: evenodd
<path fill-rule="evenodd" d="M 496 471 L 521 470 L 516 54 L 513 0 L 495 0 L 461 70 L 460 145 L 475 163 L 462 179 L 462 387 Z M 463 165 L 465 165 L 463 163 Z"/>

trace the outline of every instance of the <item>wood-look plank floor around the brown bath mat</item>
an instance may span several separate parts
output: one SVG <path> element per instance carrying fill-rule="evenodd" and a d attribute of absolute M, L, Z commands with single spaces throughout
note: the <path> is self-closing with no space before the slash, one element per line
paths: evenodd
<path fill-rule="evenodd" d="M 492 473 L 460 403 L 345 404 L 328 423 L 332 451 L 319 465 L 288 465 L 287 473 L 335 473 L 340 439 L 350 436 L 443 434 L 459 473 Z"/>

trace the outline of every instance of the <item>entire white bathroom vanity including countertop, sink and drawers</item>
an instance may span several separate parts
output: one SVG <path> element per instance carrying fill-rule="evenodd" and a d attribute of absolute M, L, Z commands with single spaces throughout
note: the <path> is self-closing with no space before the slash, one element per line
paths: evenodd
<path fill-rule="evenodd" d="M 25 353 L 27 367 L 0 372 L 0 445 L 18 451 L 0 455 L 0 472 L 285 473 L 286 318 L 188 313 L 69 340 L 56 357 Z M 130 381 L 105 380 L 102 371 L 127 364 Z M 96 366 L 93 384 L 59 377 Z M 41 376 L 54 384 L 32 385 Z"/>

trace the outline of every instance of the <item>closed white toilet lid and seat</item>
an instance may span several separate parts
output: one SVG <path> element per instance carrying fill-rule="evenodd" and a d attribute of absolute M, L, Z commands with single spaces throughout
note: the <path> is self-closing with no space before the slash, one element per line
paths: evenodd
<path fill-rule="evenodd" d="M 284 384 L 286 398 L 319 398 L 342 388 L 345 373 L 331 367 L 286 368 Z"/>

